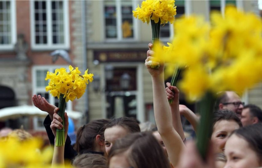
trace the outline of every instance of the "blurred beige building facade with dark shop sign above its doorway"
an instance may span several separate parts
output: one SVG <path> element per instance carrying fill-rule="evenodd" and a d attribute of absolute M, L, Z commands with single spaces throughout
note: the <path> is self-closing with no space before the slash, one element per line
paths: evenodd
<path fill-rule="evenodd" d="M 135 117 L 140 122 L 154 122 L 152 82 L 144 62 L 148 43 L 151 42 L 151 25 L 132 16 L 142 1 L 86 1 L 87 65 L 95 74 L 89 89 L 89 118 Z M 224 13 L 232 4 L 245 11 L 258 14 L 257 1 L 238 0 L 176 0 L 177 16 L 204 15 L 209 20 L 211 10 Z M 172 25 L 161 26 L 162 42 L 171 40 L 175 32 Z M 110 74 L 111 73 L 111 74 Z M 129 75 L 129 85 L 122 86 L 123 76 Z M 170 80 L 167 80 L 170 82 Z M 262 88 L 247 92 L 244 101 L 259 105 Z M 260 90 L 259 95 L 258 90 Z M 261 98 L 259 98 L 261 97 Z M 194 104 L 180 102 L 195 110 Z"/>

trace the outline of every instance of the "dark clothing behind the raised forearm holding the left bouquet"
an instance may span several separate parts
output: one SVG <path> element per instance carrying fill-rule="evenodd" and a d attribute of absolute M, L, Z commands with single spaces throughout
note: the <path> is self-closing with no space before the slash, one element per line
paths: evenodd
<path fill-rule="evenodd" d="M 49 141 L 52 145 L 54 145 L 54 134 L 50 128 L 51 125 L 51 120 L 49 115 L 46 116 L 45 120 L 44 120 L 44 126 L 46 128 L 46 133 L 47 136 L 49 138 Z M 73 146 L 71 145 L 71 140 L 69 138 L 69 136 L 67 135 L 66 137 L 66 143 L 65 143 L 65 154 L 64 154 L 64 158 L 65 159 L 70 159 L 72 160 L 73 158 L 75 158 L 75 156 L 77 155 L 77 151 L 75 151 L 73 149 Z"/>

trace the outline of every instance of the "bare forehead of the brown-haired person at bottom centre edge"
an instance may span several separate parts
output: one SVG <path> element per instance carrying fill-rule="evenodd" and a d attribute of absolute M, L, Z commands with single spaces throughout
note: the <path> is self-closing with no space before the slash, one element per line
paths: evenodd
<path fill-rule="evenodd" d="M 127 151 L 121 154 L 114 155 L 109 160 L 109 168 L 129 168 L 131 165 L 128 162 Z"/>

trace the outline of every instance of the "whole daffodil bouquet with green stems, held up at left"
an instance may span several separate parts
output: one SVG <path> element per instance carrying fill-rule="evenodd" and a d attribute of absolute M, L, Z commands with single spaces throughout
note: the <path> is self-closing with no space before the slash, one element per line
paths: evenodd
<path fill-rule="evenodd" d="M 54 73 L 47 72 L 46 79 L 50 82 L 46 86 L 46 91 L 50 91 L 50 94 L 59 98 L 59 112 L 58 115 L 62 118 L 64 126 L 64 115 L 66 102 L 73 101 L 75 98 L 79 99 L 85 93 L 86 84 L 93 81 L 93 74 L 88 74 L 88 70 L 85 74 L 81 75 L 78 67 L 73 68 L 69 66 L 69 72 L 66 68 L 56 69 Z M 56 133 L 56 146 L 62 146 L 65 144 L 65 130 L 58 130 Z"/>

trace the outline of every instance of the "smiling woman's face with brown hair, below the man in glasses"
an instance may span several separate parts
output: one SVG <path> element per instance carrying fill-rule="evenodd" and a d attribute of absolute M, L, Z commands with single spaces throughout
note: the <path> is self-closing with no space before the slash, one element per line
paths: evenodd
<path fill-rule="evenodd" d="M 215 153 L 224 152 L 228 136 L 238 128 L 239 125 L 234 120 L 220 120 L 214 124 L 211 141 L 213 142 Z"/>

